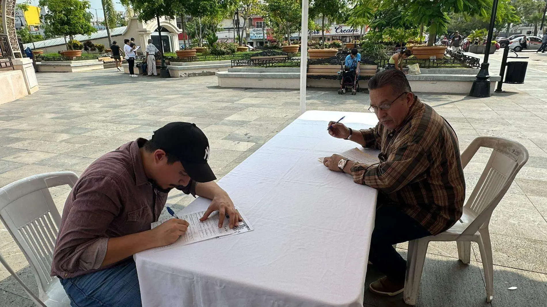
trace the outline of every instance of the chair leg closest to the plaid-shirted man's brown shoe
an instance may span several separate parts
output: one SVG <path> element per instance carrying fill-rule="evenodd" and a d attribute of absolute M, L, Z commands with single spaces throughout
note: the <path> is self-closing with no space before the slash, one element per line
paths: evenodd
<path fill-rule="evenodd" d="M 424 239 L 409 241 L 408 257 L 406 259 L 405 290 L 403 292 L 403 299 L 408 305 L 416 305 L 428 244 L 429 241 Z"/>

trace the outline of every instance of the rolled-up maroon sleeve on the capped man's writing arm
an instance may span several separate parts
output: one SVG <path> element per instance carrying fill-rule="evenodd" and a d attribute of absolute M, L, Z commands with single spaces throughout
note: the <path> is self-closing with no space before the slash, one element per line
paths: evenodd
<path fill-rule="evenodd" d="M 68 273 L 101 266 L 108 245 L 107 228 L 123 204 L 117 182 L 106 176 L 90 176 L 74 188 L 54 253 L 54 264 Z"/>

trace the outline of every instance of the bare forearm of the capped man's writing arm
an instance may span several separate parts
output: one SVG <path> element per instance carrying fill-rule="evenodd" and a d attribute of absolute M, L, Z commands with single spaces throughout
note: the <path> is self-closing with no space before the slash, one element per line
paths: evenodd
<path fill-rule="evenodd" d="M 150 231 L 128 234 L 118 238 L 109 238 L 106 255 L 104 255 L 101 267 L 157 246 L 158 244 Z"/>

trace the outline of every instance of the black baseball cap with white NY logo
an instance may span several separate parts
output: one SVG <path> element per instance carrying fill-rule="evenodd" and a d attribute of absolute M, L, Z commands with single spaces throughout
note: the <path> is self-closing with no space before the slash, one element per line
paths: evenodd
<path fill-rule="evenodd" d="M 191 179 L 209 182 L 216 178 L 207 163 L 209 160 L 209 141 L 195 123 L 170 122 L 154 131 L 154 144 L 181 161 Z"/>

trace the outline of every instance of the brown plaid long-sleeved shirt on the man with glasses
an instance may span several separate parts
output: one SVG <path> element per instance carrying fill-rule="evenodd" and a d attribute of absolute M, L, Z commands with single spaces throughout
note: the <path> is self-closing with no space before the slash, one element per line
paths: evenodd
<path fill-rule="evenodd" d="M 356 163 L 353 180 L 379 190 L 378 205 L 399 206 L 430 233 L 462 216 L 465 181 L 458 139 L 433 108 L 415 98 L 405 121 L 388 130 L 364 129 L 364 147 L 380 149 L 379 164 Z"/>

